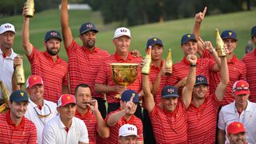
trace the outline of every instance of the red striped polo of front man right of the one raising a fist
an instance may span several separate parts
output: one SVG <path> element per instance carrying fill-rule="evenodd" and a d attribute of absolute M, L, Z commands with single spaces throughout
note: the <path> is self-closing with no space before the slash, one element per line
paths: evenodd
<path fill-rule="evenodd" d="M 189 143 L 214 143 L 217 125 L 218 102 L 215 95 L 206 97 L 202 106 L 194 106 L 193 102 L 187 109 L 187 134 Z"/>

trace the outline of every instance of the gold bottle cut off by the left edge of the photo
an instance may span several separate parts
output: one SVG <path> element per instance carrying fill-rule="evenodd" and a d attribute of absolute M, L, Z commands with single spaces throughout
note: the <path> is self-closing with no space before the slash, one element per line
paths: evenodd
<path fill-rule="evenodd" d="M 8 110 L 8 102 L 9 102 L 9 98 L 10 98 L 10 91 L 6 89 L 6 86 L 4 85 L 4 83 L 2 81 L 0 81 L 0 86 L 1 86 L 1 90 L 2 90 L 2 98 L 5 101 L 0 106 L 0 114 L 2 114 L 2 112 Z"/>

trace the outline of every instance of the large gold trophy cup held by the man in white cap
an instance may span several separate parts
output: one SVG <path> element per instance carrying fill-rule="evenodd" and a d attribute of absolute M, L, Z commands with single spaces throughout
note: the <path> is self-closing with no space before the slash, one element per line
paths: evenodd
<path fill-rule="evenodd" d="M 111 63 L 110 70 L 114 83 L 125 88 L 138 76 L 137 63 Z M 121 94 L 115 95 L 114 98 L 121 98 Z"/>

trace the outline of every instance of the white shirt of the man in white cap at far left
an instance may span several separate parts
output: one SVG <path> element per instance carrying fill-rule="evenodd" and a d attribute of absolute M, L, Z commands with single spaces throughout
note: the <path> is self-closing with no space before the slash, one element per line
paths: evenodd
<path fill-rule="evenodd" d="M 14 58 L 17 56 L 14 50 L 11 49 L 10 57 L 3 58 L 3 52 L 0 49 L 0 80 L 5 84 L 6 89 L 12 92 L 11 77 L 14 73 Z M 0 87 L 0 92 L 1 92 Z M 0 93 L 2 98 L 2 93 Z"/>

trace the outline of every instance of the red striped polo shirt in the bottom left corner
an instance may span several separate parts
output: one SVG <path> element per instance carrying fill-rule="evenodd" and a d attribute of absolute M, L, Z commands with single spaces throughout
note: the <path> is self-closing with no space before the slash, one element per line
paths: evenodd
<path fill-rule="evenodd" d="M 38 143 L 34 123 L 22 116 L 22 122 L 15 126 L 10 119 L 10 110 L 0 115 L 1 143 Z"/>

